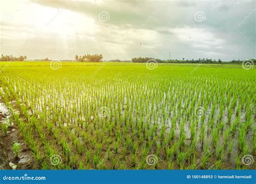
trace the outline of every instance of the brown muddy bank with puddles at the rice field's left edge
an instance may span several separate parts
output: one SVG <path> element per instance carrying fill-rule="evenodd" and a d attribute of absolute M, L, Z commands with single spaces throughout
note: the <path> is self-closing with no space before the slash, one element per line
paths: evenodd
<path fill-rule="evenodd" d="M 11 111 L 3 103 L 0 97 L 0 126 L 8 125 L 5 135 L 0 129 L 0 169 L 36 169 L 38 168 L 35 158 L 29 147 L 24 143 L 16 124 L 11 120 Z M 18 142 L 21 145 L 18 157 L 12 152 L 12 145 Z"/>

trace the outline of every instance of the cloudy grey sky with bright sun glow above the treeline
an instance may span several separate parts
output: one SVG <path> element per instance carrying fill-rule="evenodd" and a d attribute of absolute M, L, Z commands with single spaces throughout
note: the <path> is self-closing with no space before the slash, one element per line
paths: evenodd
<path fill-rule="evenodd" d="M 0 53 L 28 59 L 256 58 L 255 1 L 0 1 Z"/>

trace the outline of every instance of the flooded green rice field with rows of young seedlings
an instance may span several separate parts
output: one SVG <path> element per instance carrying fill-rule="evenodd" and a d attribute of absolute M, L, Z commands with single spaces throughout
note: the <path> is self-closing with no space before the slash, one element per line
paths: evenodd
<path fill-rule="evenodd" d="M 240 65 L 0 62 L 39 169 L 255 169 L 255 74 Z M 9 131 L 11 134 L 11 131 Z M 18 152 L 23 145 L 13 143 Z"/>

